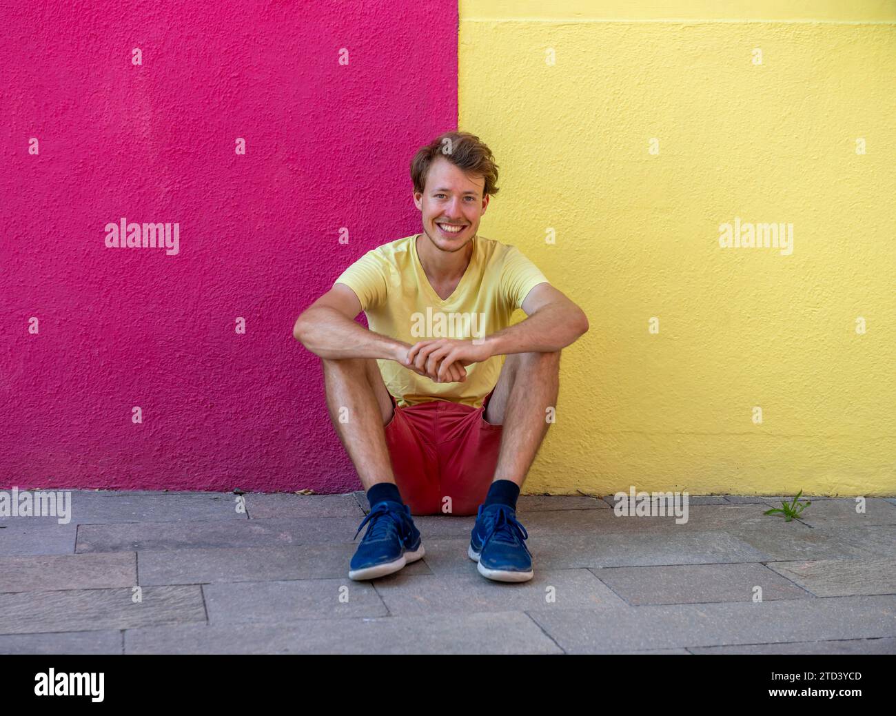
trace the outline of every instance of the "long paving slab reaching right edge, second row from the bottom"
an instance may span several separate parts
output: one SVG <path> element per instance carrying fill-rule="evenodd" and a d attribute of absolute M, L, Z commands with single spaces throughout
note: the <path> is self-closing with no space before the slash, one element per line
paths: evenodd
<path fill-rule="evenodd" d="M 568 653 L 896 636 L 892 595 L 527 613 Z"/>

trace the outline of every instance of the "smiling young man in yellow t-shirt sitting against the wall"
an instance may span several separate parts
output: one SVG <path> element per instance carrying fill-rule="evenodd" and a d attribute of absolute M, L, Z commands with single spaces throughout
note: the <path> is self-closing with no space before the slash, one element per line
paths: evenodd
<path fill-rule="evenodd" d="M 293 332 L 322 360 L 333 426 L 370 502 L 349 578 L 424 555 L 411 514 L 475 513 L 479 573 L 525 582 L 516 499 L 556 406 L 560 350 L 588 319 L 517 248 L 477 236 L 498 191 L 478 137 L 437 137 L 410 173 L 423 233 L 361 256 Z M 510 326 L 517 308 L 529 317 Z M 362 310 L 369 330 L 354 320 Z"/>

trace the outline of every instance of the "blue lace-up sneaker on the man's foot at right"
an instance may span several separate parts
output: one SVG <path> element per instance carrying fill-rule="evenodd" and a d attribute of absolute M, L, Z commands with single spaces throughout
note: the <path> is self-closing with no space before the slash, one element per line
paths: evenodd
<path fill-rule="evenodd" d="M 479 505 L 467 555 L 479 563 L 479 574 L 488 579 L 528 582 L 535 573 L 532 572 L 532 554 L 523 539 L 529 539 L 529 534 L 517 522 L 513 508 Z"/>

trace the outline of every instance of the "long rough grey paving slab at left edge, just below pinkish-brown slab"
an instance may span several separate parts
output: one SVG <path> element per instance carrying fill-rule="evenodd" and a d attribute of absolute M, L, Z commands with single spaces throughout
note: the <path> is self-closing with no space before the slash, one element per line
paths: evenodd
<path fill-rule="evenodd" d="M 82 632 L 205 622 L 198 586 L 27 591 L 0 594 L 0 634 Z"/>

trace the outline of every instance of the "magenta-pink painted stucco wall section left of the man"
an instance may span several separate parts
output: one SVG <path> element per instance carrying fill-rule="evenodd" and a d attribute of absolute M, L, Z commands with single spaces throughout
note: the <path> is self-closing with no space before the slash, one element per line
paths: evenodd
<path fill-rule="evenodd" d="M 0 25 L 0 487 L 359 489 L 292 326 L 418 230 L 456 0 L 11 0 Z M 121 217 L 177 222 L 179 253 L 107 248 Z"/>

